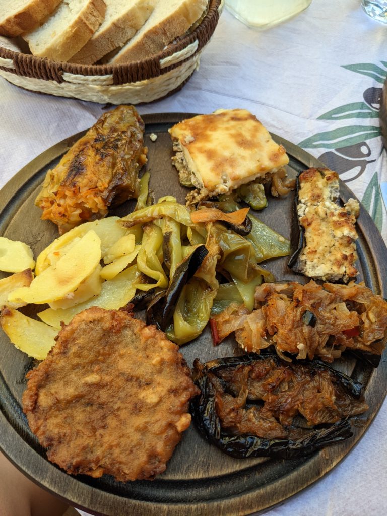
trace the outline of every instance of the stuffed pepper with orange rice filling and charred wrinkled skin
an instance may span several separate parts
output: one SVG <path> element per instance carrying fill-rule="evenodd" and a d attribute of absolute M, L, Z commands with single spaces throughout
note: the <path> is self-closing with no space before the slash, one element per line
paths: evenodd
<path fill-rule="evenodd" d="M 110 206 L 137 197 L 138 172 L 147 161 L 144 123 L 133 106 L 102 117 L 46 174 L 35 204 L 59 233 L 105 217 Z"/>

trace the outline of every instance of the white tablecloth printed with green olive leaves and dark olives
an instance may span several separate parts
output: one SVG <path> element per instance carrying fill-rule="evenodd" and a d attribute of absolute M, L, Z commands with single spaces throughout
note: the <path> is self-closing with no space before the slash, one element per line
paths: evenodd
<path fill-rule="evenodd" d="M 379 185 L 387 181 L 378 96 L 387 75 L 387 26 L 358 0 L 313 0 L 296 18 L 255 31 L 224 11 L 200 69 L 182 91 L 138 106 L 152 112 L 247 108 L 272 132 L 336 169 L 387 239 Z M 0 78 L 0 187 L 39 153 L 92 125 L 103 106 L 21 90 Z M 387 256 L 386 256 L 387 259 Z M 270 516 L 384 515 L 387 404 L 358 446 Z"/>

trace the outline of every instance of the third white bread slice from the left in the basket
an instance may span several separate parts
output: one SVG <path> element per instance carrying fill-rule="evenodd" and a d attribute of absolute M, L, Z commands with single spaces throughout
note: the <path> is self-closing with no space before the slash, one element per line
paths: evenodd
<path fill-rule="evenodd" d="M 82 49 L 71 59 L 92 65 L 112 50 L 124 46 L 148 20 L 157 0 L 105 0 L 105 20 Z"/>

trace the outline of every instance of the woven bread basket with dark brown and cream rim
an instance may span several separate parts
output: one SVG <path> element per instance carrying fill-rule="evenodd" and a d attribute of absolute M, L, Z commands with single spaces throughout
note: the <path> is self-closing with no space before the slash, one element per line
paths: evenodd
<path fill-rule="evenodd" d="M 0 37 L 0 75 L 31 91 L 100 104 L 152 102 L 181 89 L 199 66 L 214 33 L 224 0 L 209 0 L 208 11 L 188 34 L 162 52 L 120 65 L 74 65 L 23 54 Z"/>

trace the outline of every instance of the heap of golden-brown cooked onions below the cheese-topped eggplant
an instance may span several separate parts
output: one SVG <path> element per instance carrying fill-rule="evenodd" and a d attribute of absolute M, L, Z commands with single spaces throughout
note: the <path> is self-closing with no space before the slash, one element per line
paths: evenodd
<path fill-rule="evenodd" d="M 384 349 L 387 301 L 363 283 L 263 283 L 255 291 L 255 309 L 249 313 L 234 303 L 214 316 L 218 342 L 235 331 L 246 351 L 259 353 L 273 344 L 282 358 L 289 353 L 325 362 L 346 349 L 380 359 Z"/>

